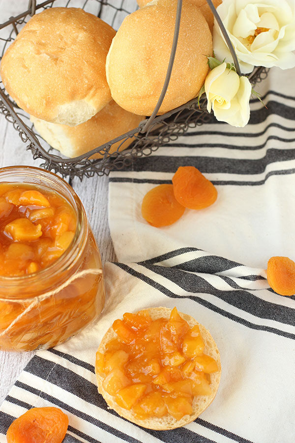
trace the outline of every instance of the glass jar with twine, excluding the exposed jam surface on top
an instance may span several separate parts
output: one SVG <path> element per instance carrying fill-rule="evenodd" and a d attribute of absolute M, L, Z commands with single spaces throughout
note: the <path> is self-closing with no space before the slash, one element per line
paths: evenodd
<path fill-rule="evenodd" d="M 13 166 L 0 168 L 0 182 L 57 192 L 77 217 L 72 243 L 56 261 L 33 274 L 0 276 L 0 350 L 51 348 L 101 313 L 105 292 L 100 253 L 80 198 L 57 175 Z"/>

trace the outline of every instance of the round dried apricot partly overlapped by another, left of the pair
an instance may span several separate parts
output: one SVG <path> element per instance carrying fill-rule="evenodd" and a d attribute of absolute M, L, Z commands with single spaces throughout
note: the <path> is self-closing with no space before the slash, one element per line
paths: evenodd
<path fill-rule="evenodd" d="M 175 198 L 173 185 L 149 190 L 142 202 L 142 216 L 155 227 L 168 226 L 180 219 L 185 208 Z"/>

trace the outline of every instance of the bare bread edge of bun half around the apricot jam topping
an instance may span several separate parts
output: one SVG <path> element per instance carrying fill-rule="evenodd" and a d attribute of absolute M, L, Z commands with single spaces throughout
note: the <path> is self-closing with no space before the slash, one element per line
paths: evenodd
<path fill-rule="evenodd" d="M 152 320 L 155 320 L 160 317 L 169 319 L 172 310 L 169 308 L 159 307 L 159 308 L 150 308 L 147 309 L 147 311 L 148 314 L 151 316 Z M 118 412 L 118 414 L 121 415 L 122 417 L 127 418 L 127 420 L 130 420 L 133 423 L 138 424 L 139 426 L 143 426 L 144 428 L 155 429 L 155 430 L 167 430 L 167 429 L 179 428 L 180 426 L 184 426 L 190 423 L 191 421 L 195 420 L 203 411 L 205 411 L 205 409 L 207 409 L 207 407 L 213 401 L 219 386 L 219 381 L 221 377 L 220 354 L 211 334 L 202 324 L 198 323 L 192 316 L 189 316 L 187 314 L 182 314 L 181 312 L 178 312 L 178 314 L 185 321 L 187 321 L 190 327 L 193 327 L 196 324 L 199 325 L 201 335 L 205 342 L 204 353 L 214 358 L 219 368 L 218 372 L 210 374 L 210 387 L 212 390 L 212 394 L 210 396 L 202 395 L 194 397 L 192 405 L 193 414 L 184 415 L 180 420 L 177 420 L 171 415 L 165 415 L 164 417 L 161 418 L 151 417 L 143 420 L 137 419 L 132 414 L 132 411 L 128 411 L 118 406 L 118 403 L 115 401 L 115 398 L 104 390 L 102 383 L 104 378 L 101 376 L 101 374 L 98 373 L 98 371 L 96 371 L 95 368 L 98 392 L 103 396 L 108 406 L 111 409 L 114 409 L 114 411 Z M 99 352 L 104 353 L 106 350 L 106 344 L 116 337 L 117 337 L 116 332 L 112 327 L 110 327 L 103 336 L 102 341 L 97 350 Z"/>

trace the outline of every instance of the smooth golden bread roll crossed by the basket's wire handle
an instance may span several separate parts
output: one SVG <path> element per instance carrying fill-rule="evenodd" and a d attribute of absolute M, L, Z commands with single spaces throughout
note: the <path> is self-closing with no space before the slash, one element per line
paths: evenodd
<path fill-rule="evenodd" d="M 166 77 L 175 28 L 177 0 L 153 1 L 127 16 L 107 57 L 112 97 L 124 109 L 150 115 Z M 198 8 L 182 6 L 177 52 L 167 93 L 158 114 L 198 95 L 208 72 L 212 36 Z"/>

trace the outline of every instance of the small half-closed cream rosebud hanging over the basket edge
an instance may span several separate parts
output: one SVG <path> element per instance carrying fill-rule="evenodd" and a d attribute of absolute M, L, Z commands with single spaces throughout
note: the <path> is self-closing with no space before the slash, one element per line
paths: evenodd
<path fill-rule="evenodd" d="M 239 77 L 235 70 L 222 63 L 210 70 L 205 80 L 207 110 L 213 109 L 220 122 L 244 127 L 250 118 L 251 91 L 247 77 Z"/>

